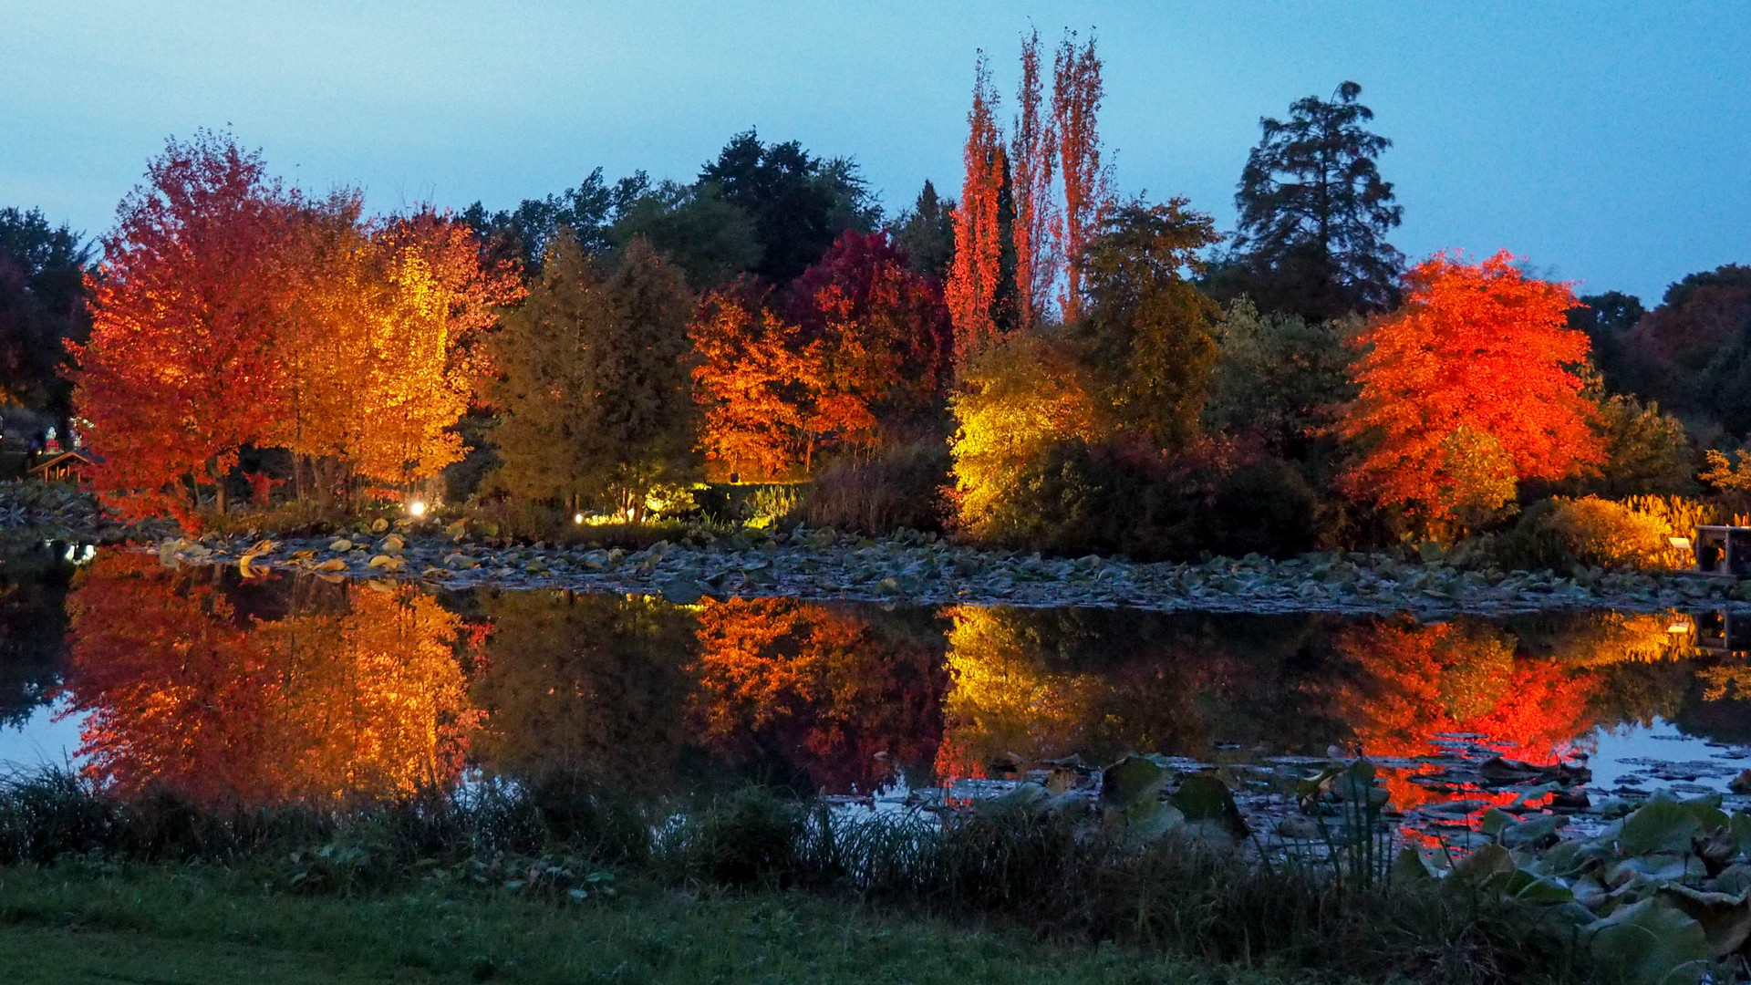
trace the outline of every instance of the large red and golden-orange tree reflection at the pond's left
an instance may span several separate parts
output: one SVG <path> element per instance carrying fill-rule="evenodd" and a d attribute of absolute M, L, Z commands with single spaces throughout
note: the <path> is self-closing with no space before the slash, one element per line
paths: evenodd
<path fill-rule="evenodd" d="M 103 556 L 68 599 L 86 773 L 121 792 L 284 803 L 408 794 L 462 766 L 459 620 L 410 587 L 252 624 L 214 582 Z"/>

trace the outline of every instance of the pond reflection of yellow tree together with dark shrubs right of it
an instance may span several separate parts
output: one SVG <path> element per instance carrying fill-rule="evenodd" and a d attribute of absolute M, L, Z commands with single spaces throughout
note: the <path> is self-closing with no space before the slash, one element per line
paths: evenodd
<path fill-rule="evenodd" d="M 953 620 L 944 776 L 1217 743 L 1322 752 L 1343 734 L 1299 687 L 1327 663 L 1320 617 L 960 606 Z"/>

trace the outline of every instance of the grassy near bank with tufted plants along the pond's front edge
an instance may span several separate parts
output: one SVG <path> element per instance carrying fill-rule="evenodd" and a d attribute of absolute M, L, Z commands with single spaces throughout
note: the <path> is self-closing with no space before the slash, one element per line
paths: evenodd
<path fill-rule="evenodd" d="M 1602 927 L 1579 931 L 1590 911 L 1562 906 L 1550 880 L 1527 892 L 1506 875 L 1522 871 L 1511 861 L 1415 875 L 1415 850 L 1406 861 L 1390 838 L 1361 827 L 1336 827 L 1319 852 L 1261 859 L 1220 782 L 1168 783 L 1149 766 L 1115 764 L 1094 799 L 1021 787 L 886 818 L 758 787 L 653 811 L 576 778 L 404 803 L 226 810 L 170 794 L 119 803 L 72 776 L 39 775 L 0 787 L 0 934 L 128 929 L 326 950 L 312 946 L 312 925 L 322 925 L 312 915 L 362 906 L 445 932 L 348 952 L 354 960 L 387 953 L 385 964 L 415 971 L 461 964 L 475 980 L 529 981 L 711 980 L 700 964 L 737 981 L 793 980 L 723 964 L 760 945 L 781 953 L 756 960 L 797 962 L 828 939 L 840 953 L 879 953 L 890 934 L 925 962 L 916 978 L 902 974 L 914 981 L 947 980 L 947 964 L 958 980 L 1579 983 L 1609 980 L 1620 957 L 1609 932 L 1595 943 Z M 1357 813 L 1341 790 L 1324 799 L 1315 813 L 1333 826 L 1378 826 L 1366 801 Z M 151 913 L 172 897 L 184 917 Z M 215 920 L 242 901 L 305 917 L 284 932 Z M 489 915 L 501 915 L 497 939 L 482 939 Z M 510 915 L 536 932 L 506 932 Z M 753 941 L 718 943 L 713 918 L 742 924 Z M 604 934 L 615 924 L 637 931 L 615 941 Z M 826 925 L 837 938 L 823 938 Z M 594 934 L 608 946 L 562 945 Z M 553 953 L 527 950 L 531 936 L 546 936 Z M 571 978 L 553 964 L 569 964 Z M 868 980 L 854 962 L 828 967 Z"/>

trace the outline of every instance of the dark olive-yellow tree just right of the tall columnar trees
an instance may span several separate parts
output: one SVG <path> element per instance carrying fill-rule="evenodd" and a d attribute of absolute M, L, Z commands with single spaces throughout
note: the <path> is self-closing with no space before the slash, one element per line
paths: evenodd
<path fill-rule="evenodd" d="M 1189 275 L 1201 272 L 1198 251 L 1217 238 L 1210 217 L 1184 198 L 1133 202 L 1112 210 L 1082 258 L 1087 315 L 1073 335 L 1122 426 L 1161 449 L 1198 433 L 1210 394 L 1222 310 Z"/>

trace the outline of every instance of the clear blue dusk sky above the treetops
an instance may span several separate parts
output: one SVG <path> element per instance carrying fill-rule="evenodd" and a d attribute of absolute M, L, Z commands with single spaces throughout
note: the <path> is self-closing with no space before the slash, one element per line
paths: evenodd
<path fill-rule="evenodd" d="M 1233 223 L 1261 116 L 1362 84 L 1411 258 L 1511 249 L 1655 301 L 1751 261 L 1751 4 L 0 0 L 0 205 L 103 233 L 168 135 L 310 189 L 511 207 L 602 167 L 690 179 L 735 131 L 954 195 L 974 53 L 1094 28 L 1122 193 Z M 1007 119 L 1010 105 L 1003 107 Z"/>

